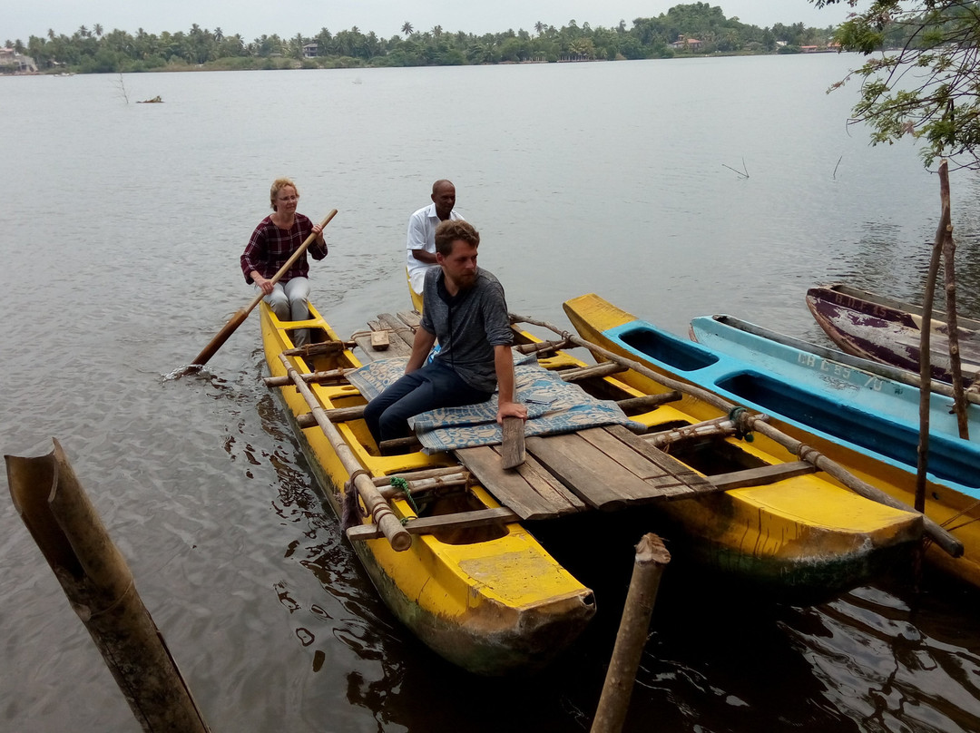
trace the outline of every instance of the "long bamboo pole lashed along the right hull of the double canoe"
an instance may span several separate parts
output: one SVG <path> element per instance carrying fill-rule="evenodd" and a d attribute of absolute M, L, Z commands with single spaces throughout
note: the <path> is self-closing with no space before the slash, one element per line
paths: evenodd
<path fill-rule="evenodd" d="M 537 325 L 542 328 L 547 328 L 562 336 L 562 338 L 566 339 L 568 343 L 588 349 L 593 354 L 601 355 L 611 362 L 616 362 L 622 366 L 627 366 L 638 374 L 642 374 L 643 376 L 659 382 L 668 389 L 674 389 L 683 394 L 690 395 L 695 399 L 701 400 L 702 402 L 708 403 L 709 405 L 724 411 L 725 413 L 730 413 L 737 407 L 718 395 L 709 392 L 707 389 L 703 389 L 677 379 L 671 379 L 664 374 L 659 374 L 649 366 L 642 365 L 633 359 L 622 357 L 609 349 L 603 348 L 599 344 L 594 344 L 591 341 L 587 341 L 586 339 L 569 333 L 568 331 L 563 331 L 558 326 L 545 320 L 538 320 L 527 316 L 517 316 L 515 314 L 510 314 L 510 316 L 511 322 L 524 322 L 530 323 L 531 325 Z M 904 502 L 900 502 L 898 499 L 889 496 L 881 489 L 860 480 L 858 476 L 851 473 L 849 470 L 844 468 L 844 466 L 831 461 L 819 451 L 809 448 L 809 446 L 805 446 L 799 440 L 791 438 L 784 432 L 777 430 L 769 424 L 766 424 L 765 420 L 762 419 L 760 415 L 749 415 L 747 417 L 747 421 L 753 430 L 760 432 L 762 435 L 765 435 L 768 438 L 771 438 L 776 443 L 779 443 L 787 450 L 793 452 L 800 457 L 801 461 L 806 461 L 809 464 L 815 465 L 820 470 L 833 476 L 842 484 L 865 499 L 878 502 L 879 504 L 884 504 L 888 507 L 892 507 L 893 509 L 902 510 L 903 512 L 920 514 L 922 516 L 923 531 L 929 536 L 930 539 L 932 539 L 933 542 L 936 543 L 937 546 L 941 547 L 954 558 L 958 558 L 963 554 L 963 543 L 936 523 L 935 520 L 926 516 L 925 513 L 912 509 Z"/>

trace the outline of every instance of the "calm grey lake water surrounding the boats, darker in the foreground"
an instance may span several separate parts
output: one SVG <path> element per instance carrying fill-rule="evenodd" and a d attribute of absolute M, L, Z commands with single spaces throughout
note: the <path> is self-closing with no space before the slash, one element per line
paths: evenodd
<path fill-rule="evenodd" d="M 614 609 L 530 683 L 461 673 L 321 509 L 257 316 L 167 375 L 251 299 L 238 256 L 279 175 L 339 210 L 313 284 L 343 335 L 408 308 L 406 222 L 441 177 L 512 310 L 559 324 L 595 291 L 678 333 L 730 313 L 819 340 L 812 284 L 918 297 L 938 179 L 849 131 L 857 92 L 824 92 L 858 61 L 0 79 L 0 449 L 61 441 L 216 733 L 588 730 Z M 980 181 L 951 177 L 977 315 Z M 0 729 L 138 730 L 7 500 L 0 568 Z M 794 607 L 670 569 L 627 730 L 980 730 L 976 594 L 897 568 Z"/>

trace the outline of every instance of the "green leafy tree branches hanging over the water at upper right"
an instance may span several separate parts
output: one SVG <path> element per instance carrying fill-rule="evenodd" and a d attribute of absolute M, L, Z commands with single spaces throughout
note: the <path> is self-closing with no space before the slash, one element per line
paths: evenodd
<path fill-rule="evenodd" d="M 858 5 L 811 1 L 818 8 Z M 980 170 L 980 4 L 872 0 L 838 27 L 836 39 L 841 50 L 871 57 L 831 89 L 859 81 L 851 122 L 865 122 L 873 144 L 911 135 L 925 143 L 927 168 L 946 157 Z"/>

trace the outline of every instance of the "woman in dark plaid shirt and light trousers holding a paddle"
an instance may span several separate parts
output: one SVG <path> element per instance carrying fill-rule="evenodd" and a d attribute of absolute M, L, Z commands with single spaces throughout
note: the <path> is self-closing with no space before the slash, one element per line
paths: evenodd
<path fill-rule="evenodd" d="M 259 222 L 252 232 L 248 245 L 241 256 L 245 282 L 254 284 L 265 297 L 270 309 L 280 320 L 306 320 L 310 318 L 310 263 L 306 253 L 274 285 L 272 277 L 311 233 L 317 238 L 311 242 L 308 252 L 314 260 L 326 257 L 323 227 L 296 212 L 300 195 L 296 184 L 289 178 L 277 178 L 270 189 L 272 213 Z M 292 332 L 293 342 L 302 346 L 309 340 L 306 328 Z"/>

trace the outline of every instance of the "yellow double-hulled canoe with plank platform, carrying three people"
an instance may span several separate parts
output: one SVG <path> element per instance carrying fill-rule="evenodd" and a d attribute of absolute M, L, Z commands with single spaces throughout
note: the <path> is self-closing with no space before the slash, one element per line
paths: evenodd
<path fill-rule="evenodd" d="M 866 583 L 921 537 L 919 515 L 869 502 L 812 467 L 801 468 L 791 455 L 777 457 L 763 441 L 738 438 L 724 415 L 712 415 L 721 418 L 714 423 L 724 423 L 708 426 L 717 432 L 670 442 L 678 428 L 705 427 L 690 409 L 690 398 L 631 387 L 628 371 L 625 376 L 610 375 L 608 369 L 593 373 L 595 367 L 522 331 L 517 331 L 520 341 L 540 350 L 541 366 L 558 370 L 566 380 L 580 378 L 576 383 L 601 399 L 628 405 L 629 419 L 646 426 L 649 434 L 643 436 L 625 428 L 618 433 L 591 429 L 606 442 L 618 435 L 619 454 L 631 456 L 618 463 L 600 456 L 606 463 L 596 471 L 603 477 L 598 483 L 608 485 L 587 485 L 584 469 L 579 477 L 574 467 L 563 472 L 549 464 L 579 460 L 582 450 L 561 461 L 547 457 L 567 441 L 585 447 L 584 431 L 528 438 L 527 464 L 511 471 L 474 463 L 475 454 L 466 454 L 492 451 L 489 447 L 426 455 L 410 446 L 381 456 L 361 418 L 366 401 L 344 376 L 362 365 L 353 344 L 340 339 L 314 308 L 305 321 L 280 321 L 265 304 L 261 314 L 267 383 L 284 401 L 325 499 L 338 516 L 345 498 L 353 496 L 368 510 L 347 536 L 372 582 L 417 637 L 470 671 L 496 675 L 541 667 L 574 641 L 596 611 L 593 591 L 529 530 L 535 520 L 546 529 L 537 532 L 540 536 L 554 538 L 564 531 L 578 546 L 595 543 L 590 547 L 598 565 L 608 567 L 609 539 L 590 531 L 583 536 L 582 528 L 600 523 L 590 525 L 590 516 L 610 514 L 589 512 L 628 508 L 623 517 L 649 531 L 663 506 L 697 555 L 714 568 L 769 588 L 821 596 Z M 290 331 L 300 327 L 310 328 L 312 339 L 297 349 Z M 388 328 L 393 336 L 405 331 L 411 336 L 408 325 Z M 364 334 L 356 342 L 369 360 L 387 354 L 374 353 Z M 673 457 L 645 442 L 662 436 L 668 436 L 662 445 Z M 667 466 L 666 478 L 652 477 L 654 461 L 658 469 Z M 535 494 L 534 501 L 553 502 L 553 509 L 530 511 L 519 499 L 509 506 L 498 501 L 513 496 L 515 482 L 526 479 L 531 485 L 532 474 L 547 484 L 547 496 Z M 620 474 L 624 478 L 617 478 Z M 663 488 L 671 481 L 673 494 Z M 596 499 L 590 491 L 613 499 Z M 564 523 L 569 514 L 576 517 L 574 528 Z M 631 557 L 640 536 L 617 526 L 618 555 Z"/>

